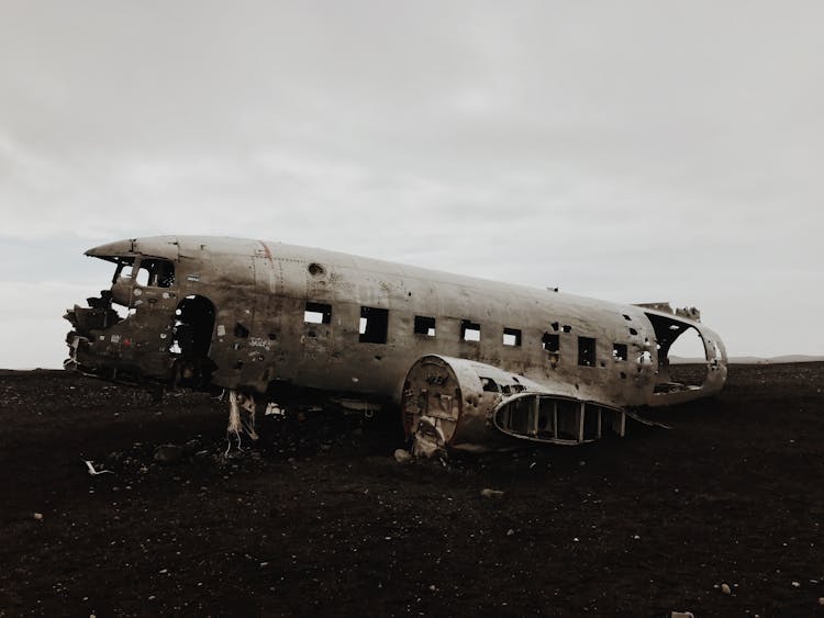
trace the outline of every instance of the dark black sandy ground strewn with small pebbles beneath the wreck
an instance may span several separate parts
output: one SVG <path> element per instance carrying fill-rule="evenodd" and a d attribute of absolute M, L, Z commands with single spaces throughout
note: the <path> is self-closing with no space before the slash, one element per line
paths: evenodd
<path fill-rule="evenodd" d="M 733 366 L 669 430 L 400 464 L 390 423 L 225 458 L 207 395 L 4 371 L 0 616 L 824 615 L 823 387 Z"/>

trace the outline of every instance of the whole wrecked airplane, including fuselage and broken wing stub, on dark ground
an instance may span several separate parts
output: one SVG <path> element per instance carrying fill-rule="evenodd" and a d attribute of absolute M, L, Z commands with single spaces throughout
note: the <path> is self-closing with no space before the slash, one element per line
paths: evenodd
<path fill-rule="evenodd" d="M 67 368 L 223 389 L 233 426 L 322 397 L 400 407 L 421 454 L 623 436 L 627 415 L 719 392 L 726 351 L 694 308 L 610 302 L 297 247 L 164 236 L 102 245 L 112 284 L 66 314 Z M 700 338 L 702 375 L 670 378 Z"/>

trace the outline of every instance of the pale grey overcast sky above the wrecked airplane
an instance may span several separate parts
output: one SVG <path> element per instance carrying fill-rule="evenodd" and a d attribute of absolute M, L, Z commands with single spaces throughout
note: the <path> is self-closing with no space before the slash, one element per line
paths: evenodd
<path fill-rule="evenodd" d="M 824 4 L 0 3 L 0 367 L 110 240 L 282 240 L 695 305 L 824 353 Z M 96 263 L 98 262 L 98 263 Z"/>

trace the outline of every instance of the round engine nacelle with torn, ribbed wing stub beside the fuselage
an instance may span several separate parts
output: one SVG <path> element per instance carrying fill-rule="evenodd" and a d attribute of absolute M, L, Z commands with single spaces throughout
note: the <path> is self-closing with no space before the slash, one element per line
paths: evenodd
<path fill-rule="evenodd" d="M 443 356 L 420 358 L 409 370 L 401 398 L 413 454 L 446 449 L 481 451 L 513 443 L 578 445 L 623 436 L 623 409 L 553 392 L 489 364 Z"/>

